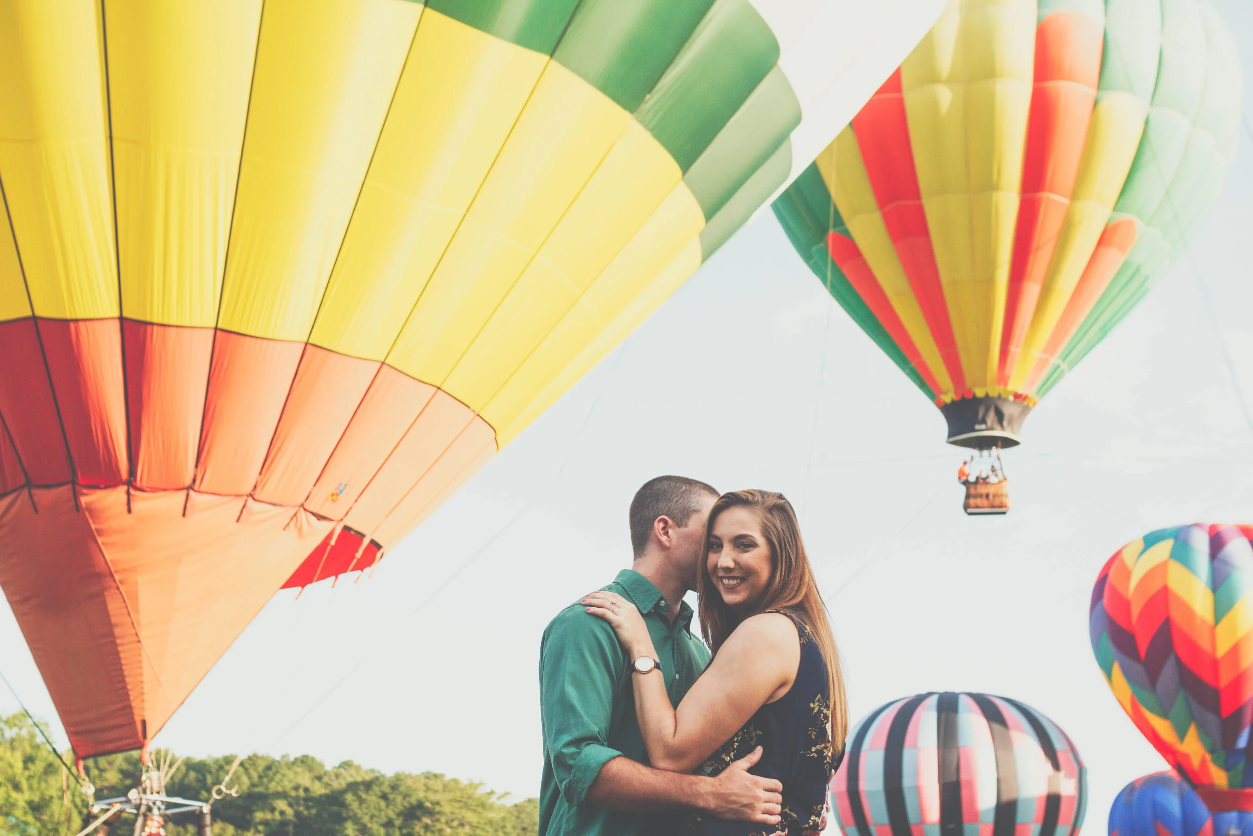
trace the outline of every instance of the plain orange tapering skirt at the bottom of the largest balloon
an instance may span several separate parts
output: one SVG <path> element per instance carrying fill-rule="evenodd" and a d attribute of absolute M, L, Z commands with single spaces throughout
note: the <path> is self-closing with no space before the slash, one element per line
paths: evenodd
<path fill-rule="evenodd" d="M 154 734 L 333 525 L 125 485 L 15 491 L 0 521 L 0 584 L 31 654 L 58 662 L 41 672 L 79 757 Z"/>

